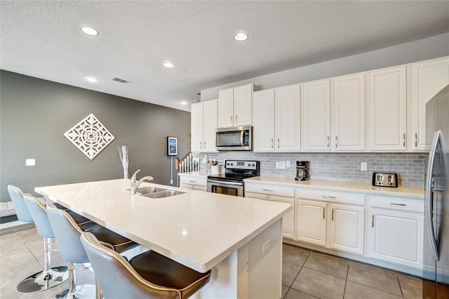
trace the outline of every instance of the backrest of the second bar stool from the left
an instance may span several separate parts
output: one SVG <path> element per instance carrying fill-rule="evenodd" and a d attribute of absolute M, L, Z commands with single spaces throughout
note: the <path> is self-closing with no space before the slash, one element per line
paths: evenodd
<path fill-rule="evenodd" d="M 32 194 L 24 194 L 23 200 L 27 205 L 29 213 L 32 215 L 34 225 L 36 225 L 37 232 L 41 237 L 54 238 L 53 230 L 51 230 L 50 222 L 48 221 L 46 207 L 32 196 Z"/>

